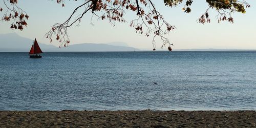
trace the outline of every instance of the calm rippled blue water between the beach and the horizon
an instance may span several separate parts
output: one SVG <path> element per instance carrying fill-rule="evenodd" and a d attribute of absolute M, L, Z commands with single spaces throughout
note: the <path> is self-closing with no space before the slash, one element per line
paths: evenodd
<path fill-rule="evenodd" d="M 145 109 L 256 110 L 256 52 L 0 53 L 0 110 Z"/>

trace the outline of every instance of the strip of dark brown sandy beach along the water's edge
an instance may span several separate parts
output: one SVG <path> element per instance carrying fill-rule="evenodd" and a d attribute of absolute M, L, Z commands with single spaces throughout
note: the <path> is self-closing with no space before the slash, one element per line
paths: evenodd
<path fill-rule="evenodd" d="M 0 127 L 256 127 L 256 111 L 0 111 Z"/>

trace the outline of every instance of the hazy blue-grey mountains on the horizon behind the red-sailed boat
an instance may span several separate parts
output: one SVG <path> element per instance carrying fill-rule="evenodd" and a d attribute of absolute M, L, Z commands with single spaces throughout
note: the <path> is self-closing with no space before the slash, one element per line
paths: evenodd
<path fill-rule="evenodd" d="M 32 39 L 21 37 L 16 33 L 0 34 L 0 52 L 28 52 L 33 44 Z M 127 47 L 127 46 L 116 46 L 108 44 L 77 44 L 70 45 L 66 48 L 58 48 L 53 45 L 45 45 L 38 42 L 43 52 L 99 52 L 99 51 L 140 51 L 139 49 Z M 125 45 L 121 43 L 120 45 Z M 127 44 L 126 44 L 127 45 Z"/>

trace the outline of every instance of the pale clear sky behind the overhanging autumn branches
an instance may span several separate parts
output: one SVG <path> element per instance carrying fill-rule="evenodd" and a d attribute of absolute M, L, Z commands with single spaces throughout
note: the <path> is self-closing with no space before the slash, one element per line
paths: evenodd
<path fill-rule="evenodd" d="M 184 13 L 180 6 L 170 8 L 164 6 L 162 0 L 153 0 L 157 10 L 164 16 L 165 20 L 177 29 L 166 37 L 174 44 L 174 49 L 256 49 L 256 1 L 248 0 L 251 5 L 246 13 L 234 13 L 234 24 L 221 22 L 215 18 L 215 10 L 210 10 L 210 24 L 198 24 L 197 19 L 206 11 L 208 5 L 205 1 L 197 0 L 191 6 L 191 13 Z M 59 46 L 58 41 L 46 39 L 45 34 L 51 29 L 54 23 L 64 22 L 72 11 L 82 4 L 82 1 L 65 1 L 65 7 L 61 7 L 55 0 L 26 0 L 18 1 L 20 8 L 24 9 L 30 16 L 28 26 L 23 30 L 10 29 L 10 22 L 0 22 L 0 34 L 17 33 L 20 36 L 34 39 L 44 44 Z M 0 7 L 3 7 L 3 1 Z M 3 12 L 0 12 L 3 15 Z M 130 28 L 130 20 L 136 18 L 136 12 L 126 11 L 127 23 L 117 23 L 115 27 L 107 20 L 92 20 L 91 16 L 84 16 L 79 26 L 72 26 L 68 29 L 72 44 L 80 43 L 108 43 L 126 42 L 127 45 L 138 49 L 149 50 L 153 48 L 153 36 L 146 37 L 137 34 L 134 28 Z M 156 49 L 160 49 L 162 41 L 157 39 Z"/>

